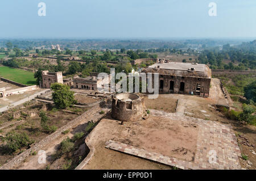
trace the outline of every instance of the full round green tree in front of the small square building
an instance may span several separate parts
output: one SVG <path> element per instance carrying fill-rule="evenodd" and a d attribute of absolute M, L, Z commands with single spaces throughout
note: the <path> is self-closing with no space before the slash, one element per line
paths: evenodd
<path fill-rule="evenodd" d="M 57 108 L 64 109 L 77 103 L 77 100 L 74 98 L 74 92 L 70 90 L 69 86 L 53 83 L 51 89 L 54 91 L 52 99 Z"/>

